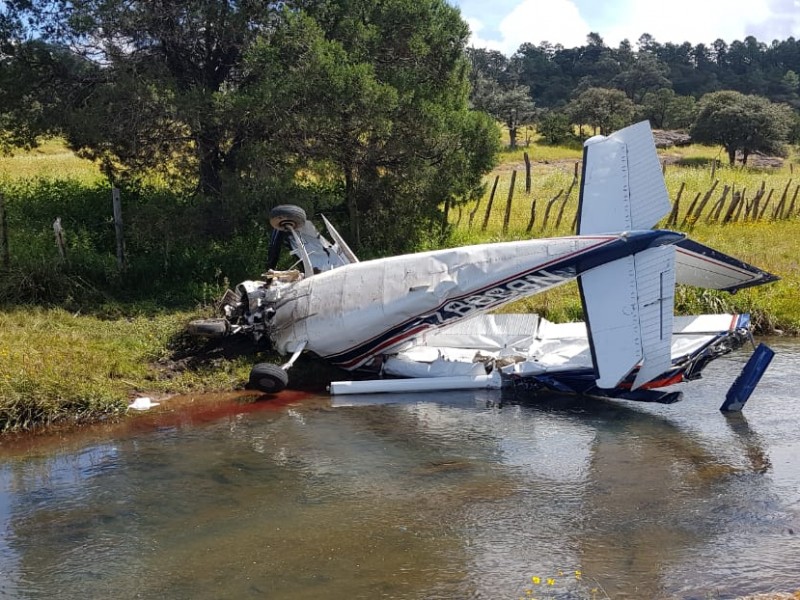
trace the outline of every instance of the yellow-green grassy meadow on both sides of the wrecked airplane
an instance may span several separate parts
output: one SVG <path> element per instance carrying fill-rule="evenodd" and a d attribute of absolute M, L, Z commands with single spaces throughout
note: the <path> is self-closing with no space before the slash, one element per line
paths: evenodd
<path fill-rule="evenodd" d="M 533 164 L 530 193 L 525 191 L 524 152 Z M 686 231 L 699 242 L 781 277 L 777 283 L 736 295 L 679 288 L 676 311 L 750 312 L 763 333 L 800 332 L 797 252 L 800 199 L 792 206 L 800 183 L 800 175 L 795 178 L 793 171 L 800 163 L 790 158 L 780 168 L 712 166 L 721 156 L 719 148 L 700 146 L 669 149 L 660 154 L 670 197 L 675 201 L 680 195 L 675 222 L 670 228 Z M 578 204 L 575 174 L 580 175 L 580 159 L 581 150 L 577 146 L 551 148 L 532 144 L 504 153 L 498 167 L 486 178 L 484 196 L 451 209 L 452 232 L 446 244 L 571 234 Z M 514 193 L 507 213 L 515 171 Z M 491 210 L 487 211 L 495 179 L 497 188 Z M 715 180 L 719 183 L 698 216 L 701 200 Z M 136 199 L 143 207 L 139 218 L 150 225 L 153 239 L 131 240 L 129 252 L 140 255 L 143 264 L 155 263 L 162 271 L 171 269 L 171 273 L 183 274 L 186 279 L 180 285 L 184 288 L 189 287 L 186 281 L 192 282 L 195 287 L 179 295 L 179 301 L 166 302 L 170 293 L 175 292 L 169 288 L 157 295 L 157 301 L 109 299 L 102 290 L 89 290 L 87 296 L 81 276 L 63 276 L 63 265 L 53 243 L 52 211 L 48 210 L 57 198 L 62 202 L 59 210 L 73 211 L 68 221 L 74 232 L 72 260 L 88 265 L 87 272 L 95 279 L 107 275 L 110 284 L 114 283 L 113 233 L 108 235 L 112 230 L 107 227 L 108 218 L 95 215 L 96 204 L 88 200 L 86 206 L 69 206 L 80 204 L 81 194 L 106 194 L 107 190 L 100 189 L 103 185 L 94 164 L 76 157 L 58 141 L 34 151 L 0 157 L 0 193 L 6 193 L 17 203 L 14 205 L 17 212 L 11 215 L 16 217 L 9 218 L 12 263 L 28 261 L 27 270 L 4 274 L 3 285 L 13 291 L 11 299 L 3 296 L 0 285 L 0 432 L 115 417 L 125 413 L 127 403 L 137 394 L 223 391 L 241 387 L 246 381 L 253 356 L 195 362 L 185 358 L 191 350 L 184 335 L 186 323 L 196 316 L 210 314 L 209 307 L 227 283 L 220 273 L 224 271 L 227 277 L 230 267 L 196 270 L 193 265 L 198 261 L 192 262 L 192 257 L 187 256 L 191 254 L 190 246 L 181 252 L 174 251 L 181 240 L 174 237 L 176 217 L 163 214 L 163 207 L 168 205 L 163 198 L 153 200 L 145 194 Z M 726 186 L 725 204 L 720 206 Z M 743 194 L 745 207 L 753 203 L 762 186 L 764 193 L 758 215 L 745 218 L 743 208 L 738 218 L 734 219 L 735 213 L 731 213 L 731 219 L 722 222 L 734 192 Z M 784 194 L 786 198 L 778 211 Z M 691 206 L 698 196 L 699 200 Z M 768 197 L 769 204 L 764 208 Z M 152 204 L 149 208 L 148 203 Z M 102 221 L 100 229 L 105 227 L 103 231 L 107 231 L 97 234 L 98 227 L 83 230 L 81 221 L 91 219 Z M 37 222 L 32 223 L 34 220 Z M 662 225 L 668 220 L 665 218 Z M 25 235 L 21 237 L 18 231 L 24 231 Z M 252 274 L 258 263 L 252 262 L 256 259 L 243 260 L 243 248 L 263 261 L 266 236 L 263 237 L 260 241 L 232 241 L 230 246 L 217 245 L 212 250 L 220 256 L 232 257 L 234 262 L 225 264 L 236 265 L 233 273 Z M 98 256 L 92 250 L 98 246 L 108 248 L 106 255 Z M 38 258 L 26 254 L 37 248 Z M 167 254 L 169 248 L 173 249 L 172 254 Z M 41 256 L 53 258 L 43 260 Z M 141 277 L 147 278 L 148 273 L 142 270 Z M 48 288 L 56 286 L 66 290 L 60 289 L 60 295 L 53 295 Z M 92 294 L 96 302 L 91 306 L 87 307 L 85 300 L 83 304 L 73 301 L 77 296 L 95 297 Z M 21 302 L 19 298 L 29 298 L 30 302 Z M 556 321 L 582 318 L 574 283 L 507 310 L 535 311 Z"/>

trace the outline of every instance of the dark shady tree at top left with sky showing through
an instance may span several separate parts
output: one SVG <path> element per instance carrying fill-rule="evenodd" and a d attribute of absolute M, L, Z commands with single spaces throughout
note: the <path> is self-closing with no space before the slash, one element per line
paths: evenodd
<path fill-rule="evenodd" d="M 65 50 L 52 68 L 58 125 L 85 154 L 141 168 L 193 154 L 198 188 L 220 194 L 248 131 L 225 97 L 246 82 L 243 53 L 275 27 L 275 5 L 256 0 L 8 0 L 28 36 Z M 66 51 L 68 49 L 68 51 Z M 33 61 L 21 61 L 25 68 Z M 91 67 L 91 68 L 90 68 Z M 51 111 L 53 112 L 53 111 Z M 53 119 L 56 122 L 56 119 Z"/>

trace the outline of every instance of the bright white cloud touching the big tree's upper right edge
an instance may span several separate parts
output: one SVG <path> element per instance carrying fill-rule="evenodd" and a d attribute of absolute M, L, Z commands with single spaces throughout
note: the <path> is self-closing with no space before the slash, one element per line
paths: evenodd
<path fill-rule="evenodd" d="M 472 31 L 470 43 L 476 48 L 499 50 L 511 55 L 521 44 L 562 44 L 567 48 L 582 46 L 591 31 L 577 7 L 570 0 L 522 0 L 497 26 L 500 39 L 481 37 L 483 24 L 467 18 Z"/>

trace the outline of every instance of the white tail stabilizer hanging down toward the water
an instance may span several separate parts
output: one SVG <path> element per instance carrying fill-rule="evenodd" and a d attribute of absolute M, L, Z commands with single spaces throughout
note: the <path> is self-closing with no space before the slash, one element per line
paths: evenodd
<path fill-rule="evenodd" d="M 599 388 L 616 387 L 641 365 L 636 389 L 671 366 L 675 251 L 651 248 L 579 278 Z"/>

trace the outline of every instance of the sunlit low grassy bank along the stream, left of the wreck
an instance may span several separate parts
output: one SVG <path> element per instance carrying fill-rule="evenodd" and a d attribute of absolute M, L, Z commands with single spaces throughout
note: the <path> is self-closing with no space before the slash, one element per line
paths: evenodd
<path fill-rule="evenodd" d="M 230 390 L 247 380 L 252 357 L 172 368 L 193 313 L 124 312 L 113 319 L 57 308 L 0 312 L 0 431 L 94 421 L 124 413 L 136 394 Z"/>

